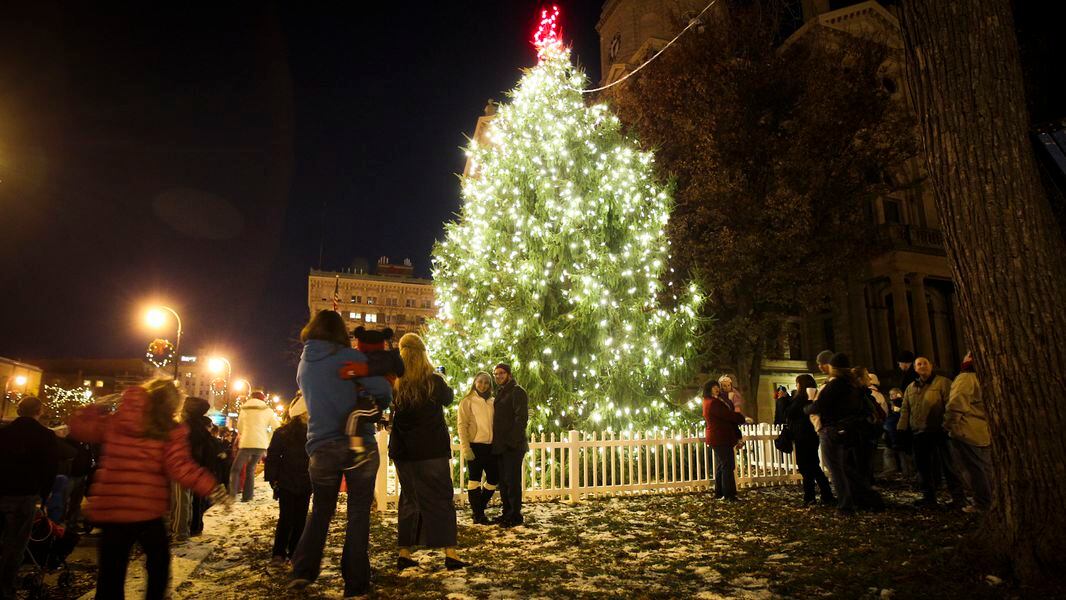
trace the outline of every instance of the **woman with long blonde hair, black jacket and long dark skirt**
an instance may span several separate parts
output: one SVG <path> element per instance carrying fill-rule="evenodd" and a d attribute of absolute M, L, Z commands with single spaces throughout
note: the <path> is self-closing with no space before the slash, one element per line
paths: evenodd
<path fill-rule="evenodd" d="M 445 567 L 467 566 L 455 550 L 457 528 L 452 490 L 452 445 L 445 406 L 455 393 L 438 375 L 417 334 L 400 338 L 404 374 L 394 384 L 389 456 L 400 477 L 397 545 L 400 569 L 418 563 L 415 546 L 445 549 Z"/>

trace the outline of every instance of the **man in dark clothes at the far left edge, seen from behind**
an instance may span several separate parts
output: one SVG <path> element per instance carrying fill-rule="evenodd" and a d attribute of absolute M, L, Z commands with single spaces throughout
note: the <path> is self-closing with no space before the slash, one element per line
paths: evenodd
<path fill-rule="evenodd" d="M 59 442 L 41 424 L 44 406 L 28 395 L 18 419 L 0 429 L 0 598 L 15 598 L 15 577 L 30 539 L 33 514 L 52 490 L 59 467 Z"/>

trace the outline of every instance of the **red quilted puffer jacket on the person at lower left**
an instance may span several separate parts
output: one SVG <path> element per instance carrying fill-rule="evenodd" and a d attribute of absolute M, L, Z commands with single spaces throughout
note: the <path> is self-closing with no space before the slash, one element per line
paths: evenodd
<path fill-rule="evenodd" d="M 197 496 L 208 496 L 215 486 L 211 472 L 193 460 L 184 425 L 174 427 L 165 441 L 144 437 L 147 405 L 148 393 L 134 387 L 123 392 L 114 415 L 106 415 L 101 406 L 88 406 L 70 419 L 70 437 L 103 444 L 85 508 L 93 522 L 132 523 L 163 517 L 169 513 L 172 480 Z"/>

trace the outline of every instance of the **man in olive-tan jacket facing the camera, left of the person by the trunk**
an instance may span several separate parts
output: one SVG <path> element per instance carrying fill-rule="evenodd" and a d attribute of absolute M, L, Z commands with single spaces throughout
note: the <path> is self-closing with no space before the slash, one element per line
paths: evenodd
<path fill-rule="evenodd" d="M 903 408 L 897 431 L 912 433 L 911 445 L 922 487 L 918 507 L 936 506 L 940 477 L 948 481 L 950 508 L 966 506 L 963 482 L 952 463 L 948 433 L 943 428 L 944 410 L 951 395 L 951 379 L 933 372 L 933 361 L 924 356 L 915 360 L 918 379 L 903 394 Z"/>

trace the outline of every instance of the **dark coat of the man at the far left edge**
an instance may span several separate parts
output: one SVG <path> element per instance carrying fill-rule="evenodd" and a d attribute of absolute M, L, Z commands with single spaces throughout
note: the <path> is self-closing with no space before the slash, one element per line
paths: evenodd
<path fill-rule="evenodd" d="M 54 432 L 36 419 L 15 419 L 0 429 L 0 496 L 48 498 L 59 461 Z"/>

